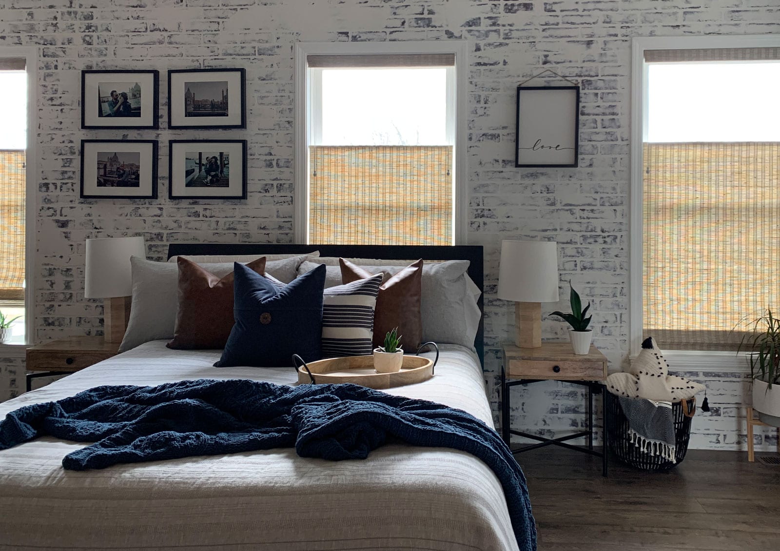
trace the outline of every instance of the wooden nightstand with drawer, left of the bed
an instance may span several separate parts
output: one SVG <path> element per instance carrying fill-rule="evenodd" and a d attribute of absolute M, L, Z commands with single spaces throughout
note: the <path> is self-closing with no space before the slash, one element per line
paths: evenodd
<path fill-rule="evenodd" d="M 101 336 L 72 336 L 50 340 L 27 349 L 27 392 L 32 390 L 33 379 L 73 373 L 98 361 L 119 354 L 119 343 L 107 343 Z M 41 372 L 42 371 L 42 372 Z"/>

